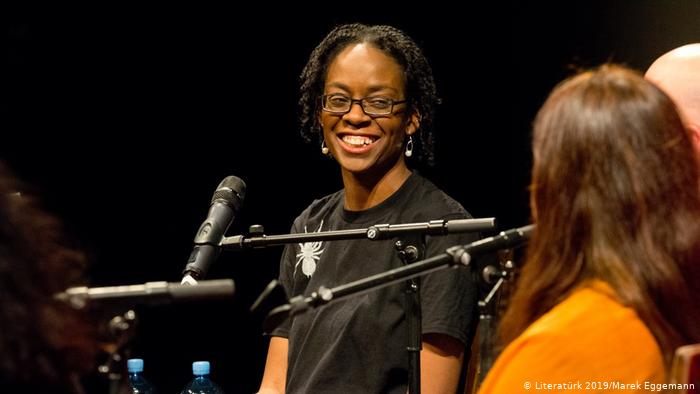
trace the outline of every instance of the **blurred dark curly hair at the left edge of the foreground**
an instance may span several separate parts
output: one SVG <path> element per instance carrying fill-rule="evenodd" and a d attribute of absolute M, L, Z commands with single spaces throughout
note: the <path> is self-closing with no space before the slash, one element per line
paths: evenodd
<path fill-rule="evenodd" d="M 53 294 L 81 283 L 84 256 L 0 163 L 0 388 L 73 392 L 93 367 L 94 325 Z"/>

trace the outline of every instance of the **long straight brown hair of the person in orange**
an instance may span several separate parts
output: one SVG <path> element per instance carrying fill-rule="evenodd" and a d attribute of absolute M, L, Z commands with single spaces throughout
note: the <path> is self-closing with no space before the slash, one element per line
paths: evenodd
<path fill-rule="evenodd" d="M 501 338 L 601 279 L 667 363 L 675 347 L 700 341 L 699 166 L 672 101 L 632 70 L 601 66 L 553 90 L 532 151 L 537 229 Z"/>

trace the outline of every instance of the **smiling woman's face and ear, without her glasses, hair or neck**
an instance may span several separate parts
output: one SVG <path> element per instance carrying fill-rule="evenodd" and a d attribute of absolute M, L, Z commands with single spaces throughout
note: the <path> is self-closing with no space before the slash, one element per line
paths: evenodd
<path fill-rule="evenodd" d="M 341 101 L 401 101 L 407 99 L 404 85 L 403 69 L 393 58 L 368 44 L 353 44 L 329 65 L 323 94 L 341 95 Z M 408 103 L 394 104 L 387 115 L 367 115 L 358 101 L 344 114 L 322 110 L 320 120 L 333 157 L 344 171 L 358 175 L 405 167 L 404 139 L 418 128 L 418 116 Z"/>

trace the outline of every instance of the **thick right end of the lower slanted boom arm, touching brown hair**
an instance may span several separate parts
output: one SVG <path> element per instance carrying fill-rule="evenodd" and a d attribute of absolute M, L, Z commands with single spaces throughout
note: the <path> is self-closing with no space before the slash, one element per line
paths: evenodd
<path fill-rule="evenodd" d="M 535 231 L 534 224 L 501 231 L 500 234 L 493 237 L 480 239 L 467 245 L 453 246 L 447 250 L 447 253 L 452 256 L 455 262 L 469 265 L 473 256 L 514 248 L 527 243 L 533 231 Z"/>

